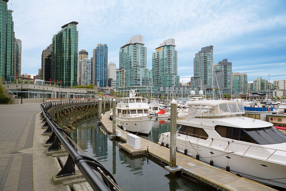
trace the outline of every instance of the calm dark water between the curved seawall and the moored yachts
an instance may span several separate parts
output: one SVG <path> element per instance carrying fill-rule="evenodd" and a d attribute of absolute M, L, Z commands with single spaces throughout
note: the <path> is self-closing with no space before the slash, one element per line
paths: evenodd
<path fill-rule="evenodd" d="M 149 157 L 123 153 L 118 147 L 120 141 L 110 140 L 96 127 L 96 116 L 89 114 L 74 122 L 77 129 L 71 132 L 71 137 L 89 157 L 96 158 L 113 174 L 122 190 L 209 190 L 181 176 L 170 175 Z M 168 131 L 170 122 L 156 121 L 151 135 L 145 138 L 158 143 L 158 135 Z"/>

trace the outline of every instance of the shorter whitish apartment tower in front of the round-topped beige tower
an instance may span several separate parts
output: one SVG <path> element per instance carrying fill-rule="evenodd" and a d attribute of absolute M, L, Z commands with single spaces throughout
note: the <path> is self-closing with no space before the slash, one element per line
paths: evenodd
<path fill-rule="evenodd" d="M 90 84 L 90 59 L 82 59 L 78 63 L 78 85 Z"/>

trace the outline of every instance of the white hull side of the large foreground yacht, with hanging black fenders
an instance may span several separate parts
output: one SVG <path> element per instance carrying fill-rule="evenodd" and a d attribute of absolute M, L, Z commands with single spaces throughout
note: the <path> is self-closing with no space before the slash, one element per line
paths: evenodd
<path fill-rule="evenodd" d="M 170 135 L 168 135 L 168 137 L 167 135 L 168 133 L 160 136 L 159 144 L 163 142 L 164 145 L 166 145 L 166 143 L 170 145 Z M 164 139 L 162 139 L 163 137 Z M 182 136 L 182 138 L 185 138 L 185 136 Z M 184 153 L 184 149 L 187 149 L 188 155 L 196 158 L 196 155 L 199 154 L 200 160 L 203 162 L 210 163 L 210 160 L 212 160 L 213 164 L 221 169 L 226 169 L 226 166 L 229 166 L 230 171 L 234 174 L 240 174 L 268 185 L 286 188 L 286 165 L 242 155 L 231 149 L 225 151 L 224 149 L 221 150 L 217 147 L 209 147 L 209 145 L 206 144 L 201 145 L 199 142 L 203 143 L 204 140 L 199 139 L 198 143 L 196 143 L 196 141 L 190 141 L 191 139 L 194 138 L 188 138 L 188 141 L 186 142 L 184 139 L 177 138 L 177 151 Z M 196 140 L 198 139 L 196 138 Z M 210 152 L 214 154 L 211 154 Z"/>

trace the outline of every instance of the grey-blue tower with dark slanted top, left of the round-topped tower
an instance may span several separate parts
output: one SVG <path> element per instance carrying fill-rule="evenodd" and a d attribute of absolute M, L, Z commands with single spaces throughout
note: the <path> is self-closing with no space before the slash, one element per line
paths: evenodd
<path fill-rule="evenodd" d="M 213 46 L 201 48 L 194 58 L 192 88 L 205 91 L 212 88 Z"/>

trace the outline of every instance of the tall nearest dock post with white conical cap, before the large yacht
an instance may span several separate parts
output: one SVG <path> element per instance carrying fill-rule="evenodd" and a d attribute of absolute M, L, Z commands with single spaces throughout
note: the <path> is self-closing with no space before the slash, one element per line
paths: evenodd
<path fill-rule="evenodd" d="M 177 102 L 174 99 L 171 101 L 170 125 L 170 165 L 165 166 L 165 169 L 170 173 L 176 173 L 182 171 L 182 167 L 176 165 Z"/>

